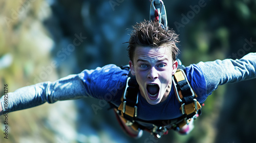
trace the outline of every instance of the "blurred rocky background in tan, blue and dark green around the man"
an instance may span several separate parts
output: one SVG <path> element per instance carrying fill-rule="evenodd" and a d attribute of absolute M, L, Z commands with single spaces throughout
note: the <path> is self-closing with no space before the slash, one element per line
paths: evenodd
<path fill-rule="evenodd" d="M 180 35 L 185 66 L 239 59 L 256 52 L 253 0 L 163 1 L 168 26 Z M 0 0 L 0 93 L 55 81 L 83 69 L 129 62 L 129 29 L 149 19 L 150 1 Z M 104 102 L 45 103 L 1 116 L 0 142 L 255 142 L 256 80 L 219 86 L 189 135 L 161 139 L 125 135 Z M 98 110 L 93 110 L 96 107 Z"/>

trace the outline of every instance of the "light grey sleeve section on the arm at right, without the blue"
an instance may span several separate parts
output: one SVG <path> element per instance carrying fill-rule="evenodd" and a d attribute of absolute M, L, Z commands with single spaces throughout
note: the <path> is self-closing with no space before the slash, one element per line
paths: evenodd
<path fill-rule="evenodd" d="M 207 95 L 218 85 L 256 78 L 256 53 L 249 53 L 241 59 L 199 62 L 197 65 L 205 77 Z"/>

